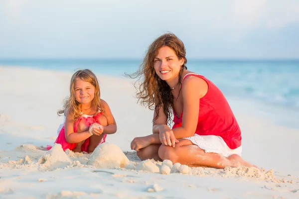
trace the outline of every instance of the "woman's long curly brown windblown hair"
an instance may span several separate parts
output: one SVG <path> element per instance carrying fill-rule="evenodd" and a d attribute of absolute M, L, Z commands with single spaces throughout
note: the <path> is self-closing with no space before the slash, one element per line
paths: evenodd
<path fill-rule="evenodd" d="M 154 40 L 149 45 L 139 70 L 129 75 L 129 77 L 133 79 L 138 78 L 135 83 L 138 102 L 141 100 L 141 104 L 149 107 L 150 110 L 155 109 L 156 117 L 153 118 L 153 121 L 158 117 L 159 108 L 163 106 L 163 112 L 166 115 L 166 123 L 170 125 L 173 107 L 171 89 L 164 80 L 161 80 L 157 76 L 153 67 L 154 58 L 157 56 L 158 50 L 163 46 L 171 48 L 179 60 L 184 59 L 184 63 L 179 72 L 179 88 L 181 88 L 181 73 L 184 69 L 187 69 L 186 49 L 183 42 L 173 33 L 163 34 Z"/>

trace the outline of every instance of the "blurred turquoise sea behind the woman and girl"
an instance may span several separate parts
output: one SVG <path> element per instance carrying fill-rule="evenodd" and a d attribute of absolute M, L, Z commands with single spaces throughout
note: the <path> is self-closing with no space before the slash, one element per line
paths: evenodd
<path fill-rule="evenodd" d="M 2 66 L 46 70 L 91 69 L 97 74 L 123 77 L 135 72 L 141 60 L 0 60 Z M 299 60 L 188 60 L 188 70 L 204 75 L 226 96 L 264 104 L 264 111 L 278 118 L 292 117 L 283 123 L 299 127 Z M 296 117 L 298 119 L 296 119 Z"/>

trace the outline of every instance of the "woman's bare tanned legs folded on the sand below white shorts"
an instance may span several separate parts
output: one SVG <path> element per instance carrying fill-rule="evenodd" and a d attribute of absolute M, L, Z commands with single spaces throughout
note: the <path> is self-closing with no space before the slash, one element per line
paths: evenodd
<path fill-rule="evenodd" d="M 225 158 L 217 153 L 205 153 L 204 150 L 194 145 L 188 139 L 181 139 L 175 147 L 161 145 L 158 150 L 158 155 L 162 160 L 171 160 L 172 163 L 180 163 L 188 166 L 205 166 L 216 169 L 225 167 L 257 167 L 252 165 L 239 155 L 231 155 Z"/>

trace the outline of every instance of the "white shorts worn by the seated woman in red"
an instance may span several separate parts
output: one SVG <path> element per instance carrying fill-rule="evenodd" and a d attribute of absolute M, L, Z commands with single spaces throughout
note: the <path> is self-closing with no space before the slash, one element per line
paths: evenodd
<path fill-rule="evenodd" d="M 239 146 L 236 149 L 230 149 L 222 137 L 216 135 L 195 134 L 194 136 L 185 137 L 184 139 L 190 140 L 193 144 L 203 149 L 206 153 L 218 153 L 226 158 L 233 154 L 241 156 L 242 153 L 242 146 Z"/>

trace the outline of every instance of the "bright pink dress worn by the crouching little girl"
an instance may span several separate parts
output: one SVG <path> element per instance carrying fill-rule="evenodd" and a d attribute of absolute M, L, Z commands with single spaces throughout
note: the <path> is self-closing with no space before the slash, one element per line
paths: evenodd
<path fill-rule="evenodd" d="M 78 124 L 80 121 L 82 121 L 86 126 L 90 126 L 93 123 L 96 123 L 96 122 L 99 123 L 99 121 L 100 121 L 99 117 L 101 117 L 102 115 L 103 115 L 103 112 L 99 112 L 95 115 L 82 114 L 77 119 L 77 121 L 74 123 L 74 132 L 75 133 L 77 132 Z M 99 145 L 106 141 L 106 137 L 107 137 L 107 134 L 104 134 L 104 137 L 100 141 Z M 85 142 L 82 144 L 81 151 L 88 152 L 89 139 L 90 138 L 87 138 L 85 140 Z M 58 137 L 56 138 L 56 141 L 54 143 L 61 144 L 63 151 L 65 151 L 66 149 L 73 150 L 77 146 L 77 143 L 68 143 L 66 141 L 65 123 L 63 124 L 63 126 L 58 134 Z M 51 148 L 52 148 L 52 146 L 47 145 L 47 150 L 50 150 Z"/>

